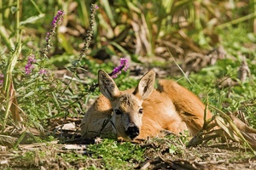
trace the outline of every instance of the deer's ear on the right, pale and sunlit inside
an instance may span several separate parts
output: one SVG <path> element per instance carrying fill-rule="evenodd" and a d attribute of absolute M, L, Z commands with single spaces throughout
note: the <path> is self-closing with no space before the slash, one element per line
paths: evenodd
<path fill-rule="evenodd" d="M 133 92 L 140 99 L 146 99 L 154 90 L 155 72 L 148 71 L 140 80 L 137 88 Z"/>

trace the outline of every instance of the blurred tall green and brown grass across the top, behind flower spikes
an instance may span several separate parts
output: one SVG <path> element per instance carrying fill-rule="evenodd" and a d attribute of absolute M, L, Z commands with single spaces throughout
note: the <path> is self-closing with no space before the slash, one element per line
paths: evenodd
<path fill-rule="evenodd" d="M 20 3 L 17 9 L 16 3 Z M 139 62 L 185 59 L 195 53 L 211 54 L 219 46 L 225 50 L 241 49 L 253 53 L 250 47 L 255 39 L 255 1 L 2 1 L 1 4 L 1 51 L 14 48 L 15 34 L 20 33 L 23 48 L 41 50 L 44 37 L 56 12 L 63 9 L 65 18 L 50 54 L 54 61 L 75 58 L 83 47 L 86 31 L 90 27 L 90 4 L 96 3 L 94 39 L 87 52 L 94 59 L 108 59 L 131 55 Z M 20 23 L 16 26 L 16 13 Z M 18 28 L 19 31 L 15 31 Z M 254 49 L 254 47 L 251 47 Z M 253 50 L 252 49 L 252 50 Z M 236 52 L 235 52 L 236 53 Z M 61 59 L 58 60 L 58 55 Z M 237 55 L 237 54 L 233 54 Z M 254 56 L 250 54 L 249 59 Z M 61 63 L 62 64 L 62 63 Z M 61 67 L 63 65 L 56 64 Z"/>

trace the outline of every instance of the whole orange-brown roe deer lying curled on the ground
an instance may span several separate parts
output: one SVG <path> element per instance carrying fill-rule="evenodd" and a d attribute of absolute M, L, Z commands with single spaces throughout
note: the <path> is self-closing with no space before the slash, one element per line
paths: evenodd
<path fill-rule="evenodd" d="M 95 138 L 101 133 L 102 137 L 115 134 L 125 140 L 147 139 L 162 132 L 178 134 L 184 130 L 195 135 L 203 126 L 206 106 L 201 100 L 171 80 L 160 80 L 154 89 L 154 71 L 148 71 L 137 88 L 125 91 L 119 91 L 105 71 L 98 72 L 98 79 L 103 95 L 84 115 L 84 138 Z M 211 117 L 207 111 L 207 119 Z"/>

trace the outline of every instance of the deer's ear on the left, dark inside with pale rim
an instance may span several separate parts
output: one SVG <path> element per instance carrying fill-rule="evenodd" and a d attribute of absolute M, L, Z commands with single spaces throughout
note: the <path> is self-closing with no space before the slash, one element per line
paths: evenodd
<path fill-rule="evenodd" d="M 98 72 L 98 80 L 100 91 L 106 98 L 113 100 L 120 95 L 119 88 L 107 72 L 100 70 Z"/>

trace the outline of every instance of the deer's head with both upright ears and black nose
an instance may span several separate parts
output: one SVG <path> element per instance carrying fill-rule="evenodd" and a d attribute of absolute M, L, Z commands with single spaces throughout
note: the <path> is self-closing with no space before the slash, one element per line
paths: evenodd
<path fill-rule="evenodd" d="M 133 93 L 119 91 L 113 79 L 105 71 L 98 72 L 99 88 L 110 100 L 113 108 L 113 128 L 118 137 L 135 139 L 140 133 L 143 119 L 143 99 L 154 90 L 154 71 L 148 71 L 139 81 Z"/>

